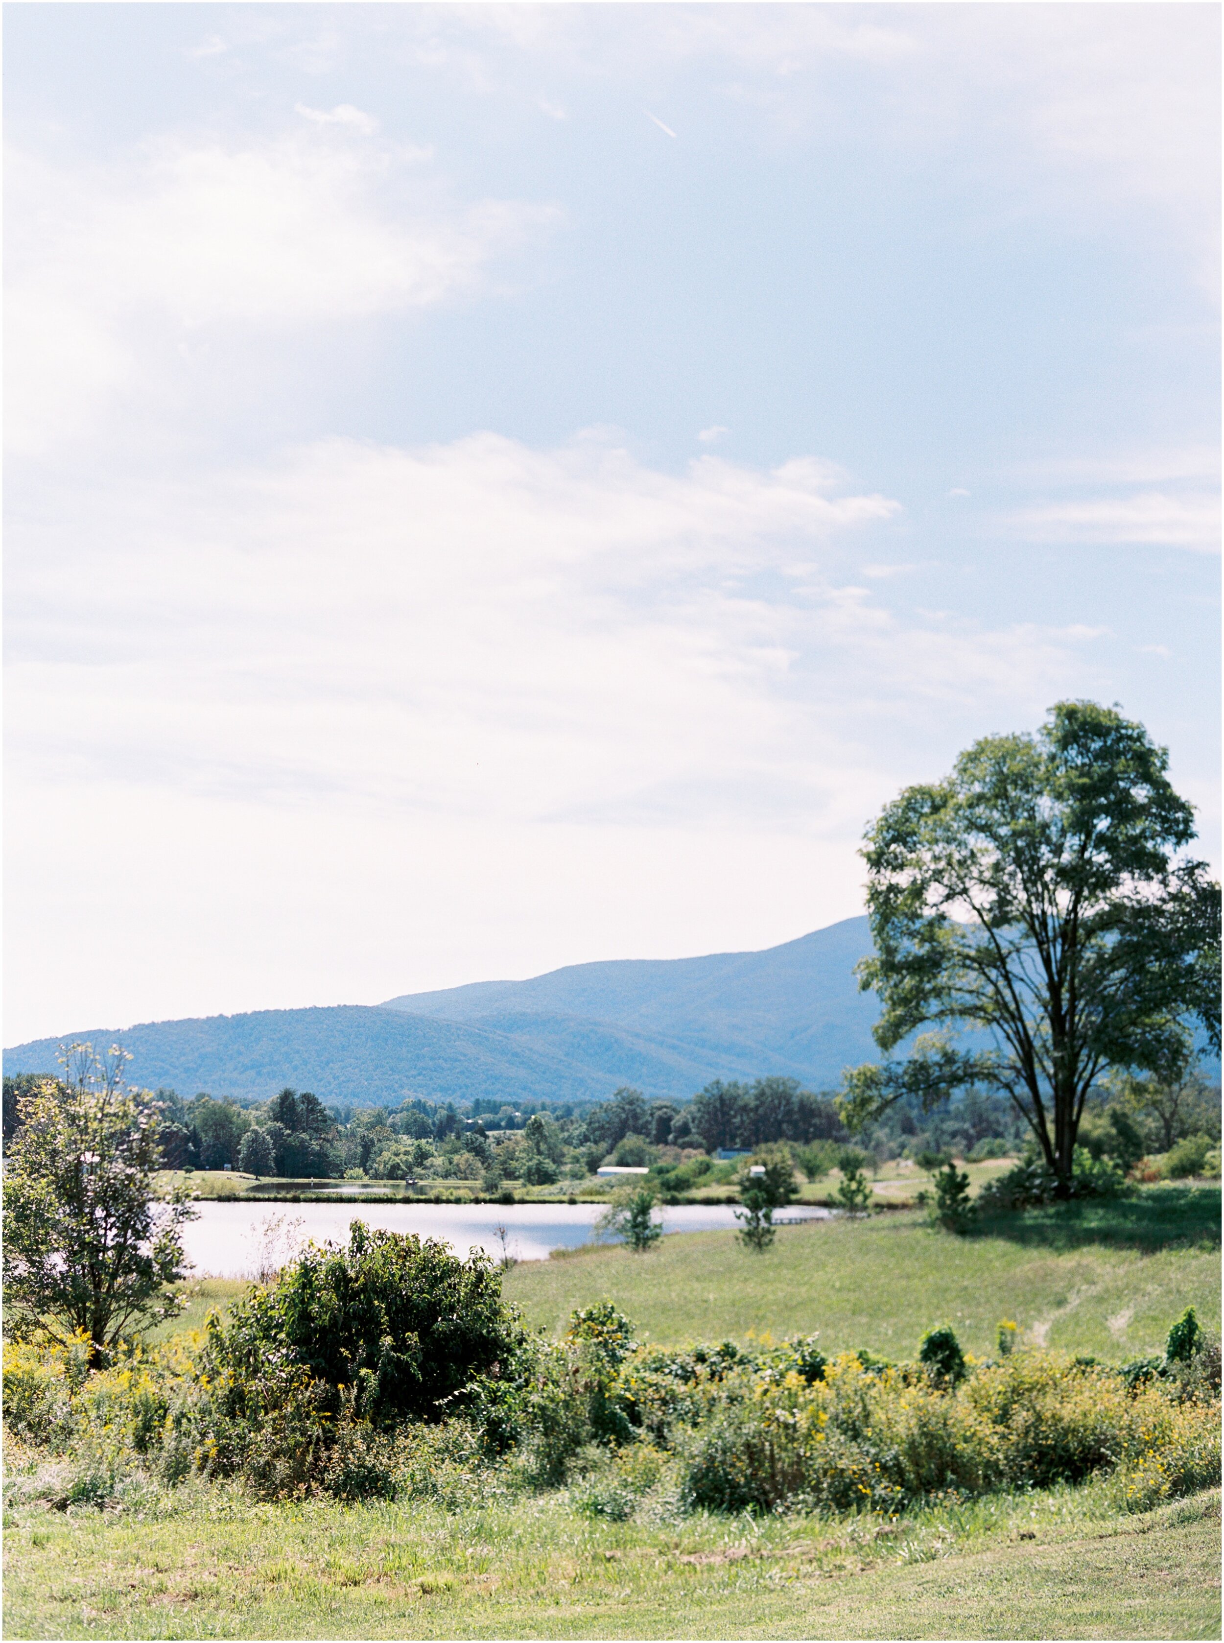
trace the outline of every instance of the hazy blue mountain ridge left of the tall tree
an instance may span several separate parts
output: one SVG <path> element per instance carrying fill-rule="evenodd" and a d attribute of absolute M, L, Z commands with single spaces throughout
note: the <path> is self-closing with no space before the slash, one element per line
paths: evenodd
<path fill-rule="evenodd" d="M 380 1006 L 255 1010 L 95 1029 L 5 1050 L 5 1073 L 56 1070 L 61 1042 L 122 1042 L 130 1076 L 191 1096 L 324 1101 L 591 1101 L 619 1084 L 685 1099 L 711 1078 L 782 1073 L 820 1088 L 869 1060 L 876 1001 L 853 968 L 871 951 L 846 918 L 761 953 L 570 964 Z"/>

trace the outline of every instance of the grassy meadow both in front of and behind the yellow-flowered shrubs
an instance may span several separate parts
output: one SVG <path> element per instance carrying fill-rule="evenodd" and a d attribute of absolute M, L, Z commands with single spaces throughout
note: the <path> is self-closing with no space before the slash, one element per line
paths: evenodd
<path fill-rule="evenodd" d="M 202 1280 L 161 1334 L 246 1285 Z M 913 1357 L 951 1323 L 991 1354 L 1022 1341 L 1107 1362 L 1158 1352 L 1193 1305 L 1219 1332 L 1219 1186 L 1002 1216 L 971 1237 L 918 1211 L 784 1226 L 764 1255 L 729 1232 L 646 1255 L 593 1247 L 519 1263 L 532 1328 L 611 1298 L 639 1339 L 820 1331 L 826 1352 Z M 591 1516 L 582 1484 L 513 1493 L 449 1474 L 444 1498 L 260 1502 L 189 1477 L 97 1505 L 54 1500 L 7 1439 L 5 1633 L 15 1638 L 1217 1636 L 1219 1490 L 1143 1502 L 1120 1477 L 900 1513 Z M 49 1469 L 54 1474 L 54 1467 Z"/>

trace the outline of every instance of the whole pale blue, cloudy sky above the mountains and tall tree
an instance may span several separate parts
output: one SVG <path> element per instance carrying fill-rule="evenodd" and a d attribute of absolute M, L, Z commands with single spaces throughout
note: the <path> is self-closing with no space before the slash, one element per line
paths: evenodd
<path fill-rule="evenodd" d="M 1219 8 L 5 7 L 5 1042 L 764 948 L 1068 697 L 1219 861 Z"/>

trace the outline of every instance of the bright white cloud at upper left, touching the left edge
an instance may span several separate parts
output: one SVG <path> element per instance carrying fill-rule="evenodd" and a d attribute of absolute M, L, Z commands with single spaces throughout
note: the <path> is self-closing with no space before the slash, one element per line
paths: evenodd
<path fill-rule="evenodd" d="M 71 173 L 10 153 L 12 449 L 87 427 L 153 368 L 168 330 L 284 332 L 430 307 L 478 289 L 496 256 L 555 217 L 457 205 L 419 174 L 422 151 L 355 143 L 358 110 L 342 113 L 271 141 L 168 140 Z"/>

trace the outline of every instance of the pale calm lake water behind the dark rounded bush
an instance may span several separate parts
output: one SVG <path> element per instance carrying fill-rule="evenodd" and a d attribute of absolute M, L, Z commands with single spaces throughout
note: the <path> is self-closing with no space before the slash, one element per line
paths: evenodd
<path fill-rule="evenodd" d="M 197 1275 L 219 1278 L 251 1277 L 261 1265 L 263 1249 L 273 1240 L 276 1260 L 284 1260 L 307 1239 L 348 1242 L 348 1222 L 386 1232 L 417 1232 L 445 1239 L 455 1254 L 483 1249 L 516 1260 L 544 1260 L 552 1249 L 575 1249 L 595 1239 L 595 1222 L 603 1204 L 222 1204 L 196 1206 L 199 1219 L 187 1222 L 184 1244 Z M 780 1221 L 821 1221 L 828 1209 L 794 1206 Z M 733 1227 L 728 1204 L 677 1204 L 662 1213 L 664 1232 L 706 1232 Z"/>

